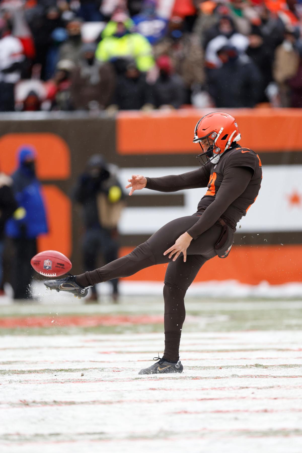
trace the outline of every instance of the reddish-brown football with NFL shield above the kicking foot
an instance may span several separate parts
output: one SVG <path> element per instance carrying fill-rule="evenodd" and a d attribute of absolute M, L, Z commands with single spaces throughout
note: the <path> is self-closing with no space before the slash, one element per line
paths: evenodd
<path fill-rule="evenodd" d="M 30 260 L 30 264 L 34 270 L 45 277 L 59 277 L 69 272 L 72 268 L 67 256 L 55 250 L 46 250 L 34 255 Z"/>

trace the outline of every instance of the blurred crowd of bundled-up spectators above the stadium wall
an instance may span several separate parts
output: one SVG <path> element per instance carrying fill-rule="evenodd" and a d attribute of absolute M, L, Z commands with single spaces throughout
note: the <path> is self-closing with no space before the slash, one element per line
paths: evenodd
<path fill-rule="evenodd" d="M 0 111 L 302 106 L 302 0 L 2 0 Z"/>

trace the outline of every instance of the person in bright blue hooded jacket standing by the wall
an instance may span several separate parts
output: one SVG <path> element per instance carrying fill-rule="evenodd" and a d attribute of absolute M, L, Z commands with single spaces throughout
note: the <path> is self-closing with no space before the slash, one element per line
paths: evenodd
<path fill-rule="evenodd" d="M 30 299 L 29 291 L 32 268 L 31 258 L 37 253 L 37 236 L 48 232 L 46 210 L 41 183 L 35 172 L 36 153 L 29 146 L 19 150 L 19 166 L 12 174 L 13 190 L 19 208 L 24 215 L 10 219 L 6 234 L 14 242 L 15 257 L 12 263 L 14 299 Z"/>

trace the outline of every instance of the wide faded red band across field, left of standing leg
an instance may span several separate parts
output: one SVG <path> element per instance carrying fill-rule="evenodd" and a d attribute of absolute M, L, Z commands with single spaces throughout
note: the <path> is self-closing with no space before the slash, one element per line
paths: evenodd
<path fill-rule="evenodd" d="M 96 326 L 119 326 L 128 324 L 160 324 L 163 316 L 155 315 L 115 315 L 115 316 L 21 316 L 0 318 L 0 328 L 13 329 L 47 328 L 47 327 L 96 327 Z"/>

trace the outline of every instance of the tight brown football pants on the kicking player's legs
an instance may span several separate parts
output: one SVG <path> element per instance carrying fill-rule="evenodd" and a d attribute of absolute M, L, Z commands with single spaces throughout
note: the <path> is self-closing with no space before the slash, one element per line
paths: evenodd
<path fill-rule="evenodd" d="M 221 234 L 221 224 L 217 222 L 191 242 L 187 249 L 185 263 L 182 254 L 176 261 L 172 261 L 172 258 L 169 260 L 168 255 L 164 256 L 163 252 L 173 246 L 177 238 L 198 220 L 198 216 L 175 219 L 156 231 L 148 241 L 137 246 L 128 255 L 112 261 L 100 269 L 77 275 L 79 284 L 90 286 L 120 277 L 129 277 L 129 275 L 155 264 L 169 263 L 163 287 L 165 330 L 163 357 L 169 361 L 178 360 L 182 324 L 186 316 L 184 297 L 187 289 L 201 266 L 216 256 L 214 244 Z"/>

